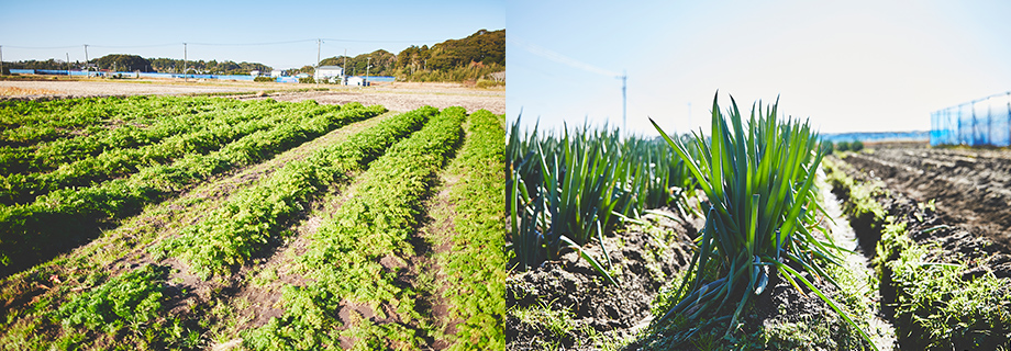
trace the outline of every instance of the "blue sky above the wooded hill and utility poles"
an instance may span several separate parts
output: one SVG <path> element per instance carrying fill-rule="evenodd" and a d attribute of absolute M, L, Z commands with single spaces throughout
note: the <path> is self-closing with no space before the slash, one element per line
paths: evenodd
<path fill-rule="evenodd" d="M 505 27 L 504 0 L 481 1 L 10 1 L 0 0 L 3 60 L 71 61 L 107 54 L 260 63 L 322 58 L 463 38 Z M 326 39 L 331 38 L 331 39 Z M 295 42 L 295 43 L 289 43 Z M 203 45 L 203 44 L 229 45 Z M 287 43 L 270 45 L 234 44 Z M 45 49 L 25 48 L 45 47 Z"/>

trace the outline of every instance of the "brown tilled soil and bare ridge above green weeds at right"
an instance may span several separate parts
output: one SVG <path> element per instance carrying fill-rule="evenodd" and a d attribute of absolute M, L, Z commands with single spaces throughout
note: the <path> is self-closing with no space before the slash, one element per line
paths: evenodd
<path fill-rule="evenodd" d="M 887 185 L 888 192 L 877 194 L 876 200 L 897 223 L 907 223 L 913 241 L 941 246 L 942 252 L 932 259 L 978 264 L 966 275 L 981 275 L 989 270 L 997 278 L 1011 278 L 1011 250 L 1007 246 L 1011 238 L 1011 223 L 1007 222 L 1011 208 L 1006 204 L 1011 196 L 1004 195 L 1011 184 L 999 181 L 1011 177 L 1000 168 L 1011 168 L 1011 159 L 971 156 L 978 155 L 965 150 L 879 149 L 871 155 L 851 155 L 844 161 L 854 167 L 847 172 L 849 177 Z M 941 162 L 946 163 L 929 166 Z M 987 205 L 992 201 L 1004 203 Z M 1006 283 L 1011 285 L 1011 281 Z"/>

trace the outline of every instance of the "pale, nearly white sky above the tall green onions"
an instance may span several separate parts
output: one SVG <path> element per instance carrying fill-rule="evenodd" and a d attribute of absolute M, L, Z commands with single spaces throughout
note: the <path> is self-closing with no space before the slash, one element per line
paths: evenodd
<path fill-rule="evenodd" d="M 656 134 L 647 116 L 708 126 L 718 89 L 744 110 L 779 95 L 822 133 L 926 131 L 932 111 L 1011 90 L 1009 14 L 997 0 L 510 1 L 507 117 L 620 126 L 627 71 L 637 133 Z"/>

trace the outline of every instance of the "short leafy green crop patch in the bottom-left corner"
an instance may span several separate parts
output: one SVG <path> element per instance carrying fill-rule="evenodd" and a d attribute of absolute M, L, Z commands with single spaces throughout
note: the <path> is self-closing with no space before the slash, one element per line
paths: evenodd
<path fill-rule="evenodd" d="M 27 322 L 5 326 L 0 350 L 195 349 L 200 335 L 165 314 L 168 273 L 147 264 L 111 279 L 97 272 L 56 284 L 58 293 L 30 309 L 33 317 L 22 316 Z"/>

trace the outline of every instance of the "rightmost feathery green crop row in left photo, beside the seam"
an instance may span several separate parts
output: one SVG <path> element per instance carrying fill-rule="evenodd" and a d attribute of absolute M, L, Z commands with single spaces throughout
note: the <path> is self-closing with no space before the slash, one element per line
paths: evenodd
<path fill-rule="evenodd" d="M 500 196 L 505 192 L 502 118 L 480 110 L 469 116 L 467 140 L 449 165 L 460 179 L 449 189 L 454 204 L 453 247 L 437 253 L 452 279 L 443 297 L 449 301 L 451 318 L 458 319 L 454 350 L 501 350 L 505 314 L 504 213 Z"/>

